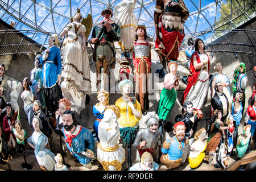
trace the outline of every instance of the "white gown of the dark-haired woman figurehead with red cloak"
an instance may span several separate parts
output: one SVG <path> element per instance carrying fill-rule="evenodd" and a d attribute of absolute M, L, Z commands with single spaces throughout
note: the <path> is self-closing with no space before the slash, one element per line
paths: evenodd
<path fill-rule="evenodd" d="M 200 60 L 208 60 L 207 55 L 201 55 Z M 188 92 L 187 97 L 185 98 L 186 101 L 191 101 L 193 103 L 193 109 L 201 109 L 204 104 L 205 97 L 207 96 L 207 92 L 209 89 L 209 73 L 204 71 L 203 68 L 206 67 L 208 70 L 208 61 L 204 66 L 201 68 L 200 75 L 197 78 L 197 82 L 195 84 L 195 88 L 193 86 Z"/>

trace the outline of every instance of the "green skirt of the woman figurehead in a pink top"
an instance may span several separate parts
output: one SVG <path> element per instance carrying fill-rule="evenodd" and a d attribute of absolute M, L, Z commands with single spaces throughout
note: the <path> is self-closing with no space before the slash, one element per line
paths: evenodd
<path fill-rule="evenodd" d="M 174 107 L 177 98 L 177 91 L 173 87 L 171 90 L 163 88 L 160 101 L 156 113 L 159 115 L 159 119 L 167 121 L 171 115 L 172 108 Z"/>

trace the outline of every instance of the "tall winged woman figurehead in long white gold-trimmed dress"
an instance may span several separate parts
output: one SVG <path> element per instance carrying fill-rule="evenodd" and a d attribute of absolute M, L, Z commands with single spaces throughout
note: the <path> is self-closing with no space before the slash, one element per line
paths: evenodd
<path fill-rule="evenodd" d="M 90 67 L 86 50 L 86 27 L 81 24 L 80 10 L 72 17 L 71 24 L 64 28 L 60 38 L 66 35 L 63 42 L 64 69 L 61 76 L 71 82 L 78 91 L 90 94 Z"/>

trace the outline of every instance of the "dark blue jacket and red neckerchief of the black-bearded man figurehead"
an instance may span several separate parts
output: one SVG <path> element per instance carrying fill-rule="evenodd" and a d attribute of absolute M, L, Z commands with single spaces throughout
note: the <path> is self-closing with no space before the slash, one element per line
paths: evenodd
<path fill-rule="evenodd" d="M 69 151 L 72 153 L 73 156 L 75 156 L 76 159 L 79 160 L 81 164 L 89 164 L 92 162 L 93 159 L 95 159 L 87 158 L 85 155 L 82 155 L 82 152 L 85 151 L 93 152 L 93 154 L 95 155 L 93 135 L 88 129 L 77 125 L 76 130 L 72 134 L 72 141 L 70 146 L 68 143 L 69 136 L 65 134 L 64 129 L 63 134 Z"/>

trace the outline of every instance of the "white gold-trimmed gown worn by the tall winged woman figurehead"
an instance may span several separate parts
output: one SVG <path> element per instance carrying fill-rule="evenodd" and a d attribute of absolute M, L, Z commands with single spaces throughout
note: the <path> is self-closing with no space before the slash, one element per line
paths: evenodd
<path fill-rule="evenodd" d="M 82 37 L 81 32 L 85 32 L 86 28 L 84 25 L 73 22 L 72 28 L 68 31 L 68 38 L 75 39 L 75 24 L 77 27 L 80 26 L 77 31 L 78 39 L 75 42 L 70 42 L 63 46 L 63 64 L 64 70 L 61 72 L 62 77 L 68 77 L 71 79 L 72 84 L 78 91 L 84 91 L 85 93 L 91 93 L 90 85 L 90 65 L 87 50 L 85 48 L 82 52 Z M 65 41 L 65 40 L 64 40 Z"/>

